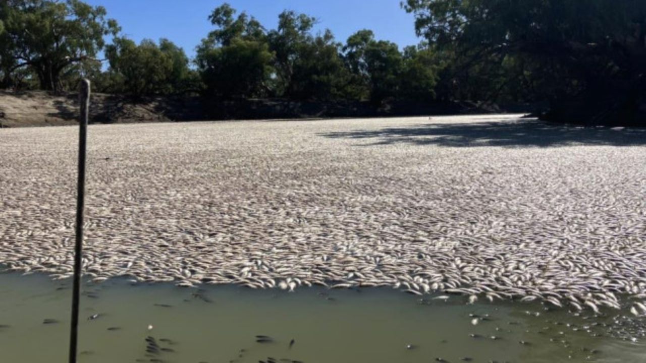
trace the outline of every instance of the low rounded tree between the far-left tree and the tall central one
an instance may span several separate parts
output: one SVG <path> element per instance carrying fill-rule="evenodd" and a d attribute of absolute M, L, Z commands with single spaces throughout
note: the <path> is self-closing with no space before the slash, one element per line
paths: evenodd
<path fill-rule="evenodd" d="M 117 37 L 106 47 L 110 62 L 109 78 L 103 78 L 103 87 L 132 96 L 145 94 L 172 94 L 191 85 L 189 59 L 182 48 L 168 39 L 160 44 L 144 39 L 140 45 Z"/>

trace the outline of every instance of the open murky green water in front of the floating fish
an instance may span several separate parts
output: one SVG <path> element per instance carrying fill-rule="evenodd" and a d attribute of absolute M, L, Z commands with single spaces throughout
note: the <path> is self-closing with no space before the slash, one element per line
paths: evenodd
<path fill-rule="evenodd" d="M 0 274 L 0 362 L 67 359 L 70 284 Z M 118 279 L 85 285 L 79 351 L 81 362 L 111 363 L 644 362 L 646 345 L 629 339 L 644 322 L 624 314 L 467 305 L 458 296 L 421 302 L 393 289 L 287 293 Z"/>

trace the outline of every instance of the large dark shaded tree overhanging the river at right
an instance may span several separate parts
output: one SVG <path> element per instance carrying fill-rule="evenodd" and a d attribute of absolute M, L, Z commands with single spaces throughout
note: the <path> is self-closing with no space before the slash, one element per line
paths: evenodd
<path fill-rule="evenodd" d="M 419 35 L 455 54 L 457 79 L 508 67 L 488 77 L 491 94 L 511 96 L 523 85 L 550 101 L 554 119 L 646 123 L 645 1 L 408 0 L 404 7 Z"/>

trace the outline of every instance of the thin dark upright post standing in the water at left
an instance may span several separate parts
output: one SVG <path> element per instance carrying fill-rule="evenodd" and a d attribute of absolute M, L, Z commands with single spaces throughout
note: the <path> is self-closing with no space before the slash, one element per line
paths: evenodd
<path fill-rule="evenodd" d="M 81 254 L 83 253 L 83 209 L 85 207 L 85 143 L 87 141 L 90 81 L 82 79 L 79 85 L 79 171 L 76 194 L 76 244 L 74 245 L 74 287 L 72 288 L 72 325 L 70 329 L 70 363 L 76 363 L 78 343 L 79 295 L 81 290 Z"/>

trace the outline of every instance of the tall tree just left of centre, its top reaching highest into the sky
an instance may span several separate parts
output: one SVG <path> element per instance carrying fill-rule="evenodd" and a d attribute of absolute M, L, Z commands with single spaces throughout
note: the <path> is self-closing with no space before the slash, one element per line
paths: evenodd
<path fill-rule="evenodd" d="M 216 98 L 266 95 L 273 73 L 273 54 L 264 29 L 244 12 L 228 4 L 218 6 L 209 19 L 216 30 L 202 39 L 195 63 L 207 95 Z"/>

